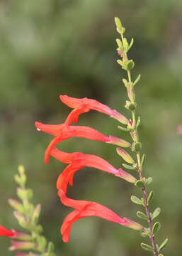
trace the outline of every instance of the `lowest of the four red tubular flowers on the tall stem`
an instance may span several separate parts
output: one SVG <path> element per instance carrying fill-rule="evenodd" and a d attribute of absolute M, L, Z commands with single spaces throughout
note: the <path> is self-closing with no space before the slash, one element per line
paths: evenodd
<path fill-rule="evenodd" d="M 99 203 L 89 201 L 77 201 L 67 198 L 62 189 L 59 189 L 58 196 L 65 206 L 69 206 L 75 209 L 72 213 L 69 213 L 69 215 L 67 215 L 67 218 L 65 218 L 64 223 L 62 224 L 61 234 L 64 242 L 69 242 L 69 232 L 72 224 L 76 220 L 84 217 L 96 216 L 112 221 L 114 223 L 119 223 L 120 225 L 128 228 L 142 230 L 142 225 L 140 225 L 139 223 L 135 223 L 134 221 L 127 218 L 120 218 L 120 216 L 118 216 L 112 210 L 106 208 L 105 206 L 102 206 Z"/>

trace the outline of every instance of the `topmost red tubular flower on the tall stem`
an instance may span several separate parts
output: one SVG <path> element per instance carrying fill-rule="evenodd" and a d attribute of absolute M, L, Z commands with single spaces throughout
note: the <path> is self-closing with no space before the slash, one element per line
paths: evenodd
<path fill-rule="evenodd" d="M 68 107 L 74 108 L 74 110 L 69 114 L 67 118 L 67 124 L 71 124 L 72 121 L 76 123 L 79 118 L 79 114 L 89 112 L 90 110 L 96 110 L 98 112 L 108 114 L 110 117 L 117 119 L 123 124 L 127 124 L 128 122 L 127 118 L 124 117 L 123 114 L 120 114 L 116 110 L 111 110 L 110 107 L 103 105 L 96 100 L 88 99 L 86 97 L 82 99 L 77 99 L 74 97 L 69 97 L 67 95 L 60 95 L 59 98 Z"/>

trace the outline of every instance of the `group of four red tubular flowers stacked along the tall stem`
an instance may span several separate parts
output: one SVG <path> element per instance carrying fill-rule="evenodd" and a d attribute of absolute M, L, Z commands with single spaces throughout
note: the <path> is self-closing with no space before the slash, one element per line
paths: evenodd
<path fill-rule="evenodd" d="M 81 126 L 72 126 L 72 122 L 76 123 L 79 119 L 79 115 L 90 110 L 96 110 L 104 114 L 108 114 L 110 117 L 117 119 L 122 124 L 128 124 L 128 120 L 123 114 L 120 114 L 116 110 L 111 110 L 110 107 L 101 104 L 96 100 L 91 100 L 88 98 L 76 99 L 73 97 L 68 97 L 67 95 L 60 95 L 60 100 L 64 102 L 69 107 L 72 107 L 73 110 L 68 115 L 66 121 L 63 124 L 50 125 L 42 124 L 40 122 L 35 122 L 35 127 L 38 131 L 47 132 L 52 134 L 54 139 L 50 142 L 49 146 L 45 151 L 45 163 L 49 161 L 49 156 L 55 157 L 55 159 L 62 161 L 68 166 L 62 171 L 62 174 L 57 178 L 57 190 L 60 201 L 65 205 L 71 208 L 74 208 L 72 213 L 67 215 L 64 223 L 62 224 L 61 234 L 64 242 L 69 242 L 69 233 L 72 227 L 72 224 L 79 220 L 80 218 L 97 216 L 106 220 L 113 221 L 114 223 L 119 223 L 120 225 L 133 228 L 135 230 L 142 230 L 142 225 L 135 223 L 134 221 L 127 218 L 120 218 L 112 210 L 102 206 L 101 204 L 90 202 L 90 201 L 78 201 L 71 198 L 67 198 L 67 185 L 68 183 L 72 186 L 74 173 L 84 166 L 93 167 L 101 171 L 105 171 L 109 174 L 114 174 L 119 178 L 123 178 L 130 183 L 136 183 L 136 178 L 123 169 L 115 169 L 108 161 L 101 159 L 99 156 L 94 156 L 91 154 L 81 154 L 80 152 L 74 152 L 68 154 L 66 152 L 60 151 L 55 146 L 62 142 L 64 139 L 69 139 L 71 137 L 82 137 L 86 139 L 93 139 L 100 142 L 106 142 L 110 144 L 115 144 L 121 147 L 131 147 L 129 142 L 126 142 L 123 139 L 113 136 L 106 136 L 96 131 L 91 127 L 81 127 Z M 118 148 L 118 152 L 125 152 L 123 149 Z M 119 154 L 119 153 L 118 153 Z M 125 152 L 125 157 L 127 154 Z M 132 161 L 132 159 L 129 159 Z"/>

